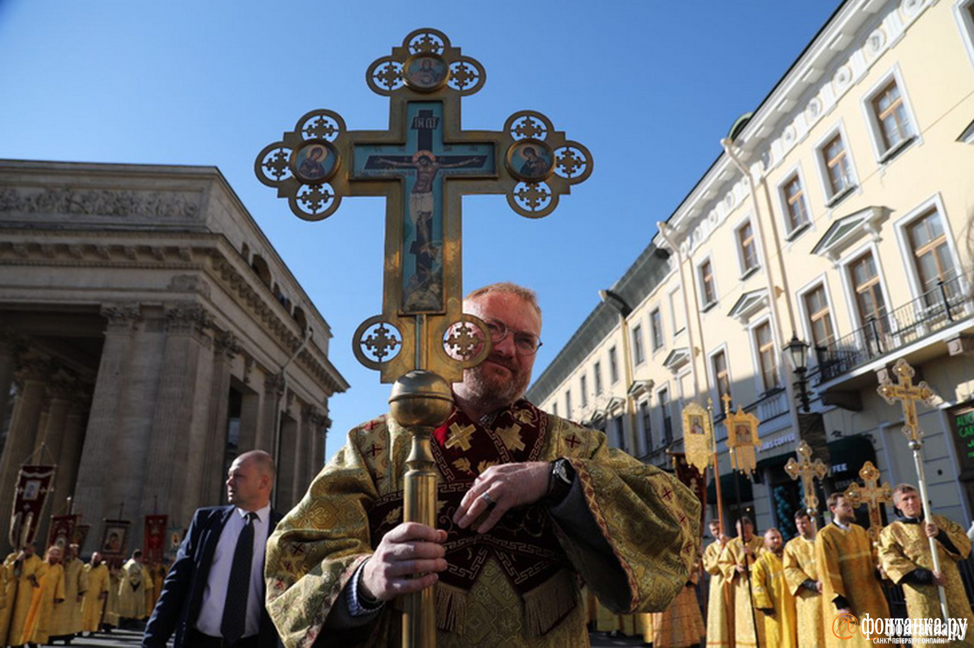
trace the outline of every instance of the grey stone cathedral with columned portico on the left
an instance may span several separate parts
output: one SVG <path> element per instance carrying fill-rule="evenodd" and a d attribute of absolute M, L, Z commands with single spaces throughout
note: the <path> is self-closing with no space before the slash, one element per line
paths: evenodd
<path fill-rule="evenodd" d="M 131 551 L 143 515 L 185 527 L 223 503 L 233 456 L 273 452 L 280 404 L 278 508 L 296 503 L 349 385 L 327 322 L 219 170 L 0 161 L 0 233 L 5 550 L 32 453 L 57 464 L 45 520 L 73 496 L 89 553 L 121 506 Z"/>

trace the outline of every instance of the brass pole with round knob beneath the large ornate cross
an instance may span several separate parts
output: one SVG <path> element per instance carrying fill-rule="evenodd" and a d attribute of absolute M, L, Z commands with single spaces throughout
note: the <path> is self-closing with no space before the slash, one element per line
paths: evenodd
<path fill-rule="evenodd" d="M 393 384 L 389 398 L 395 421 L 409 429 L 412 441 L 403 481 L 403 521 L 436 527 L 436 472 L 432 431 L 453 409 L 450 383 L 428 371 L 411 371 Z M 433 588 L 406 594 L 402 615 L 402 647 L 434 648 L 436 606 Z"/>

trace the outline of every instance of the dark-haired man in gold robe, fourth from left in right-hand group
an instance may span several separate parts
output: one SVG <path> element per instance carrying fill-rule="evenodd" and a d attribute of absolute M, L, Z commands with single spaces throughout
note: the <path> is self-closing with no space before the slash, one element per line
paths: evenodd
<path fill-rule="evenodd" d="M 825 643 L 822 625 L 822 583 L 815 564 L 815 525 L 805 511 L 795 513 L 798 536 L 785 545 L 785 582 L 795 597 L 799 648 L 818 648 Z M 830 630 L 831 631 L 831 630 Z"/>

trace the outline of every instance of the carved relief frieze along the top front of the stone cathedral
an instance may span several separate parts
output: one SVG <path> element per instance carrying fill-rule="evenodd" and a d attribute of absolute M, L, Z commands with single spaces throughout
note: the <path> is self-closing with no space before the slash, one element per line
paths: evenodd
<path fill-rule="evenodd" d="M 198 196 L 168 192 L 135 192 L 109 189 L 56 187 L 26 190 L 0 189 L 0 212 L 28 214 L 78 214 L 89 216 L 147 216 L 195 219 L 200 211 Z"/>

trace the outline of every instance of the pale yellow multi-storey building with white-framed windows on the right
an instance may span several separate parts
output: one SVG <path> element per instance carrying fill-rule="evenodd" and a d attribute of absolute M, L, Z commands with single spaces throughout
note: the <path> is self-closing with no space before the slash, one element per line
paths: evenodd
<path fill-rule="evenodd" d="M 711 399 L 725 511 L 739 487 L 759 528 L 788 530 L 804 504 L 783 465 L 803 439 L 832 465 L 829 491 L 866 460 L 916 482 L 902 412 L 876 392 L 906 358 L 938 394 L 919 406 L 932 510 L 966 526 L 972 120 L 974 0 L 845 2 L 693 192 L 646 216 L 647 248 L 528 397 L 657 465 L 683 450 L 682 408 Z M 728 479 L 723 393 L 762 421 L 753 485 Z"/>

